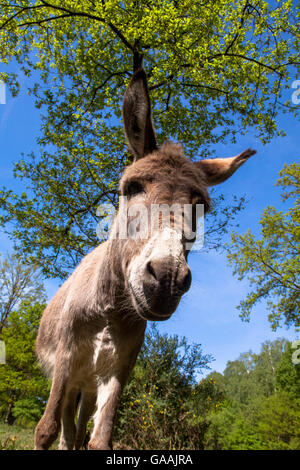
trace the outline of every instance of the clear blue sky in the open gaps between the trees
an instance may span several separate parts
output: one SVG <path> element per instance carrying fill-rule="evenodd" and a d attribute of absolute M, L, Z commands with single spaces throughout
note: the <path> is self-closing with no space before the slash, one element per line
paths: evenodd
<path fill-rule="evenodd" d="M 0 104 L 0 187 L 18 191 L 25 182 L 14 180 L 13 164 L 22 152 L 26 155 L 37 150 L 35 139 L 41 122 L 32 97 L 26 93 L 26 87 L 30 84 L 30 79 L 23 78 L 19 96 L 12 98 L 7 94 L 6 104 Z M 291 88 L 291 95 L 293 91 Z M 249 199 L 246 209 L 239 216 L 240 233 L 248 228 L 259 233 L 263 208 L 267 205 L 282 206 L 280 188 L 274 186 L 278 172 L 284 163 L 299 160 L 299 121 L 282 115 L 279 124 L 287 136 L 276 138 L 265 146 L 253 132 L 249 132 L 247 136 L 241 136 L 235 145 L 216 147 L 216 156 L 220 157 L 236 155 L 248 147 L 257 150 L 257 154 L 220 187 L 229 200 L 234 194 L 246 195 Z M 0 231 L 0 252 L 10 251 L 11 246 L 8 237 Z M 211 364 L 213 370 L 223 372 L 227 361 L 235 360 L 242 352 L 259 352 L 266 340 L 285 337 L 294 341 L 298 338 L 292 329 L 271 330 L 263 302 L 253 310 L 249 323 L 241 321 L 236 306 L 247 294 L 249 286 L 247 281 L 240 282 L 233 277 L 225 254 L 192 253 L 189 265 L 193 275 L 191 289 L 172 318 L 158 324 L 158 328 L 162 333 L 186 336 L 190 342 L 201 343 L 203 352 L 215 358 Z M 45 285 L 51 298 L 58 282 L 47 280 Z"/>

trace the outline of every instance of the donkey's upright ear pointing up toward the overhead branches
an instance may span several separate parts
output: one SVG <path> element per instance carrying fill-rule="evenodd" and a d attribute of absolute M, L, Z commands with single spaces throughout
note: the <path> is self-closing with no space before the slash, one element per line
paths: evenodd
<path fill-rule="evenodd" d="M 139 68 L 133 75 L 123 101 L 125 136 L 134 160 L 138 160 L 157 148 L 151 120 L 151 105 L 147 78 Z"/>

